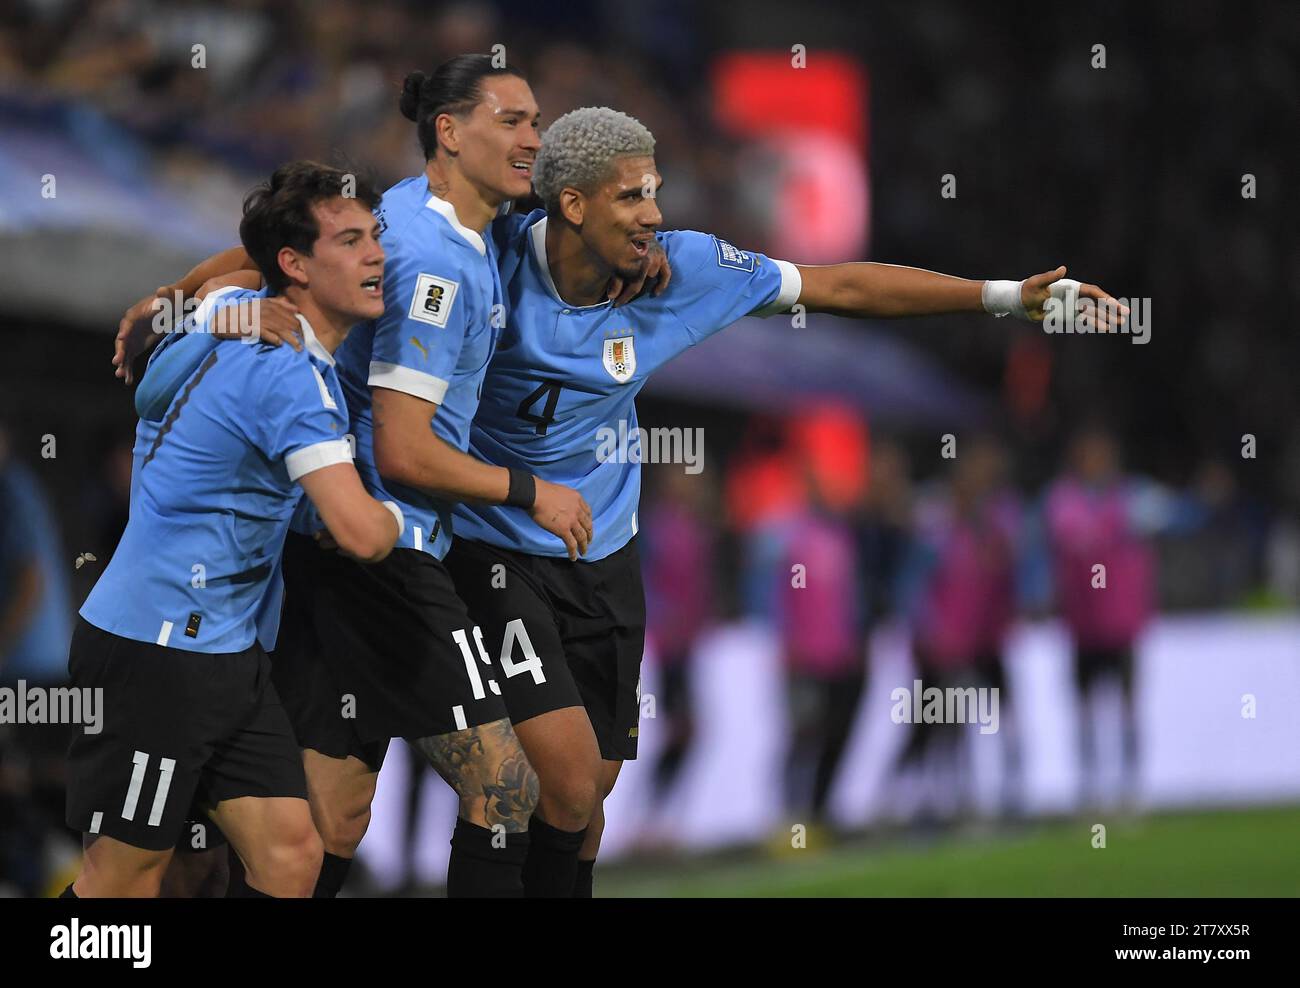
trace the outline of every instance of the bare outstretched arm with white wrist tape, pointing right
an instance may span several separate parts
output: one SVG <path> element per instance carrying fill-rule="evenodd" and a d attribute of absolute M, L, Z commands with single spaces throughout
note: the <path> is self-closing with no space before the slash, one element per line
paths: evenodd
<path fill-rule="evenodd" d="M 1128 313 L 1126 306 L 1096 285 L 1065 278 L 1065 266 L 1024 281 L 972 281 L 922 268 L 862 261 L 853 264 L 796 265 L 802 278 L 800 304 L 810 312 L 859 318 L 936 316 L 950 312 L 989 312 L 1041 321 L 1049 298 L 1065 304 L 1092 299 L 1098 329 L 1114 329 Z"/>

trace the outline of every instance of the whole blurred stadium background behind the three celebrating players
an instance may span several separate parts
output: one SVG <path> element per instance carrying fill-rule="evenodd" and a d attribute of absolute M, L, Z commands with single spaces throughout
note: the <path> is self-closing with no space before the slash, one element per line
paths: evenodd
<path fill-rule="evenodd" d="M 597 893 L 1300 892 L 1294 5 L 0 9 L 0 682 L 62 680 L 126 520 L 121 312 L 234 243 L 286 159 L 420 170 L 404 73 L 504 44 L 543 124 L 651 127 L 668 229 L 1150 300 L 1143 346 L 748 320 L 650 384 L 642 426 L 705 459 L 646 471 L 642 755 Z M 1102 603 L 1071 552 L 1108 560 Z M 1132 651 L 1131 710 L 1105 677 L 1084 701 L 1080 649 Z M 1000 729 L 893 723 L 922 676 L 1001 684 Z M 65 744 L 0 725 L 0 894 L 75 861 Z M 452 800 L 404 755 L 352 892 L 441 878 Z"/>

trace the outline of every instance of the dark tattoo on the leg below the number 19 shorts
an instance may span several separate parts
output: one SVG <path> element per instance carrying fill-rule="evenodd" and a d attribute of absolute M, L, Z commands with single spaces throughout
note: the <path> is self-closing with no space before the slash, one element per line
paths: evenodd
<path fill-rule="evenodd" d="M 528 829 L 540 783 L 510 720 L 421 737 L 415 746 L 456 790 L 463 806 L 482 809 L 488 827 L 500 824 L 507 833 Z"/>

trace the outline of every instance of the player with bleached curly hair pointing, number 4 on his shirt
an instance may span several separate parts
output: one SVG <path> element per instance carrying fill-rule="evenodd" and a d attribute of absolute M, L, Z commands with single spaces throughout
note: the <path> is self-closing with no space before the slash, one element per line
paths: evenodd
<path fill-rule="evenodd" d="M 533 183 L 546 208 L 500 256 L 510 318 L 469 451 L 572 485 L 595 530 L 573 562 L 517 508 L 463 504 L 447 556 L 488 654 L 499 656 L 506 706 L 541 779 L 524 872 L 530 896 L 592 894 L 603 800 L 637 751 L 641 468 L 612 437 L 637 434 L 634 399 L 649 376 L 742 316 L 796 303 L 850 317 L 1041 320 L 1053 296 L 1110 300 L 1096 286 L 1065 282 L 1065 268 L 982 282 L 885 264 L 796 265 L 705 233 L 659 234 L 660 182 L 654 138 L 638 121 L 608 108 L 567 113 L 537 156 Z M 606 286 L 640 277 L 656 239 L 671 283 L 615 309 Z"/>

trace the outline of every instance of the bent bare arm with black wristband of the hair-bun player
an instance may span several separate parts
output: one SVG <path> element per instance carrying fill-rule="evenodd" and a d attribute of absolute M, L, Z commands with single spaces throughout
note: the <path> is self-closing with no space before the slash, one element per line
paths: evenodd
<path fill-rule="evenodd" d="M 448 500 L 521 507 L 564 542 L 569 559 L 586 552 L 592 507 L 576 490 L 526 474 L 512 484 L 507 468 L 474 459 L 429 429 L 438 411 L 434 402 L 387 387 L 372 387 L 370 394 L 374 465 L 382 477 Z M 532 490 L 520 490 L 520 481 L 530 481 Z"/>

